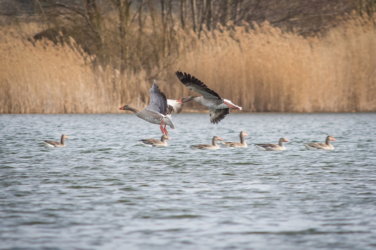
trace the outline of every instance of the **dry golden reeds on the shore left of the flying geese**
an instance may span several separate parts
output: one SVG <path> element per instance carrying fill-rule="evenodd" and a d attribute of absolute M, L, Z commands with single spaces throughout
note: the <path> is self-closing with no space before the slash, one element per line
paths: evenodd
<path fill-rule="evenodd" d="M 142 72 L 93 70 L 82 50 L 33 46 L 12 30 L 0 30 L 0 51 L 0 113 L 113 113 L 126 101 L 142 107 L 149 90 Z"/>

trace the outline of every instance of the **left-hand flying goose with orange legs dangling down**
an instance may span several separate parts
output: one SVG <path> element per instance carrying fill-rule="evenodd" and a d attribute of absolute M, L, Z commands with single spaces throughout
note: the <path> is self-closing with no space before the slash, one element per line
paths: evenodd
<path fill-rule="evenodd" d="M 171 112 L 173 107 L 167 104 L 167 99 L 164 93 L 159 89 L 156 80 L 154 80 L 153 86 L 149 90 L 150 103 L 141 111 L 136 110 L 129 105 L 124 105 L 119 108 L 119 110 L 130 110 L 147 122 L 153 124 L 160 124 L 159 128 L 162 131 L 162 134 L 167 135 L 166 125 L 170 126 L 173 130 L 175 129 L 174 123 L 171 119 Z M 162 125 L 165 125 L 164 128 Z"/>

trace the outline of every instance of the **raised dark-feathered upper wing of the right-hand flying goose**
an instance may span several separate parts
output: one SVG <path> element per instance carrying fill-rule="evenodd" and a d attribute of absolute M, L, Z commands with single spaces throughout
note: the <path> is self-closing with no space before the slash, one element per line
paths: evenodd
<path fill-rule="evenodd" d="M 185 86 L 188 87 L 190 90 L 193 90 L 197 93 L 200 93 L 204 97 L 208 98 L 220 98 L 220 96 L 215 93 L 213 90 L 209 89 L 202 81 L 187 74 L 184 74 L 180 71 L 176 71 L 176 76 L 179 81 Z"/>

